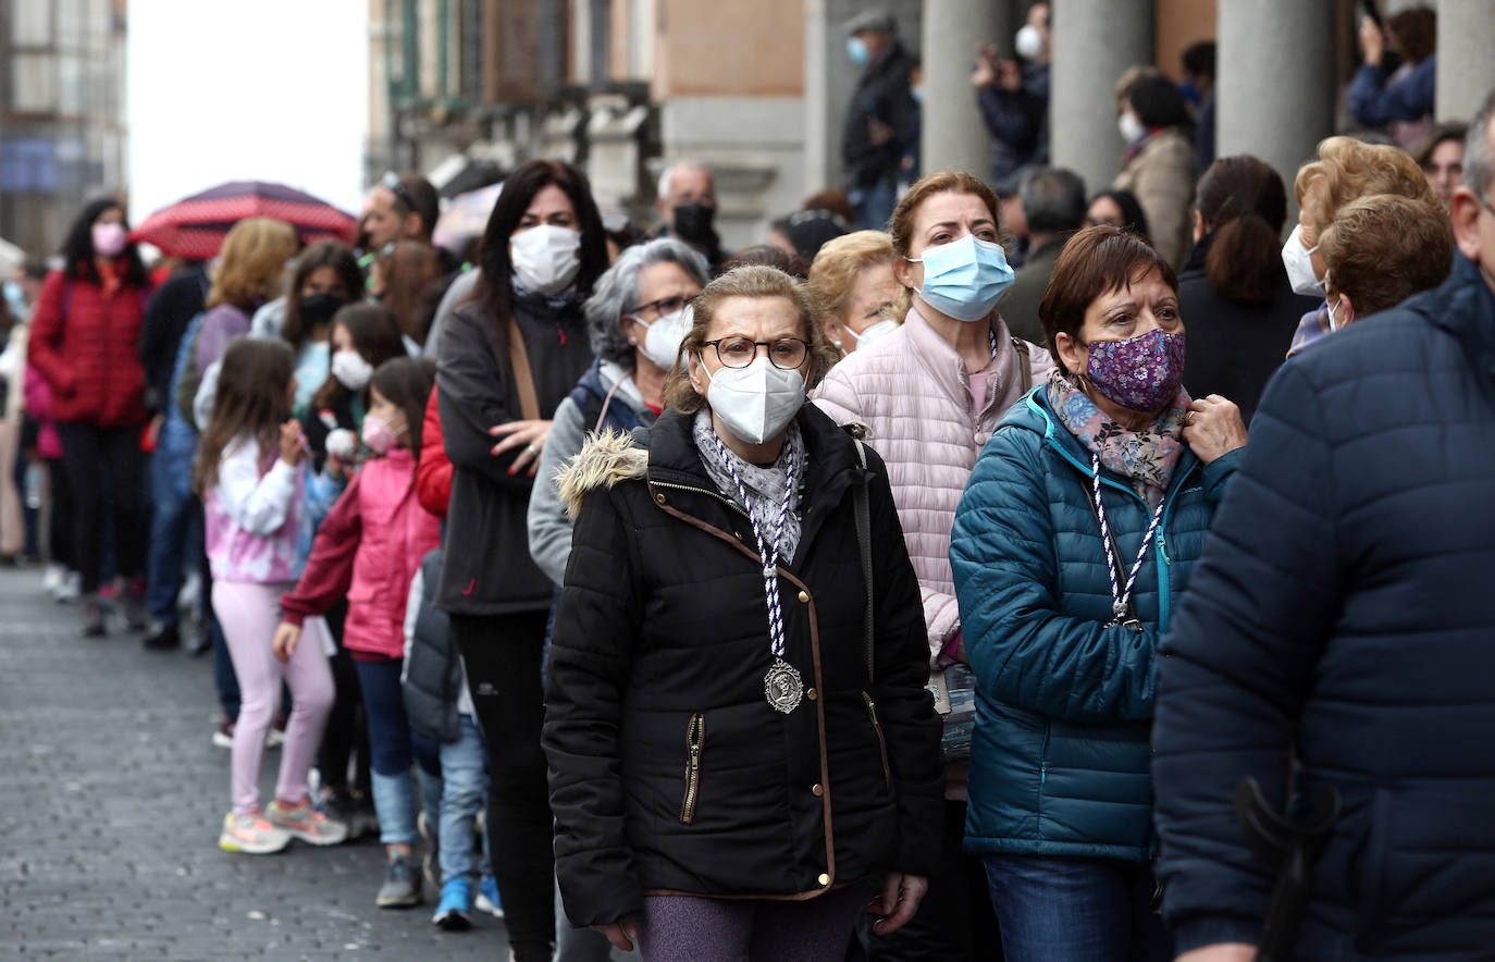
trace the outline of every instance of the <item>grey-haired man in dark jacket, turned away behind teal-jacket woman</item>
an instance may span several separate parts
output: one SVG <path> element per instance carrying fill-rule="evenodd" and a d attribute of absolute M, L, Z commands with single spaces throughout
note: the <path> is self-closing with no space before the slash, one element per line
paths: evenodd
<path fill-rule="evenodd" d="M 1032 247 L 997 310 L 1012 337 L 1042 346 L 1046 338 L 1038 320 L 1038 305 L 1048 290 L 1048 278 L 1054 275 L 1064 241 L 1085 226 L 1085 181 L 1063 168 L 1036 168 L 1023 175 L 1018 197 Z"/>

